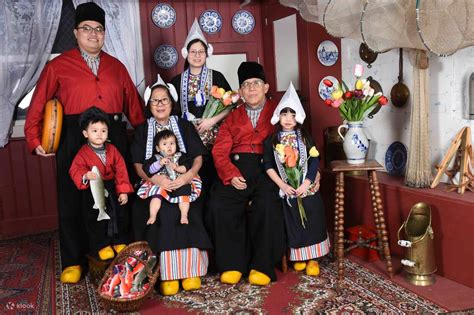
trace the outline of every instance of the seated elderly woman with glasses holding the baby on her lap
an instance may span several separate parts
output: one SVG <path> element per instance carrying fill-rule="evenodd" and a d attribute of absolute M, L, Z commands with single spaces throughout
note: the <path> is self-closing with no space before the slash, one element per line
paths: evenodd
<path fill-rule="evenodd" d="M 131 148 L 141 187 L 145 182 L 151 182 L 163 190 L 173 192 L 192 184 L 208 152 L 194 126 L 172 114 L 177 99 L 174 86 L 166 84 L 158 76 L 158 81 L 145 91 L 144 99 L 147 103 L 147 120 L 135 130 Z M 175 180 L 159 174 L 150 178 L 143 170 L 144 161 L 154 152 L 155 135 L 162 130 L 174 133 L 182 159 L 189 160 L 187 163 L 191 165 L 186 173 Z M 132 210 L 133 233 L 136 240 L 148 241 L 153 252 L 159 255 L 162 280 L 160 292 L 163 295 L 178 293 L 179 280 L 182 280 L 184 290 L 200 288 L 200 277 L 207 273 L 206 250 L 212 246 L 202 221 L 202 198 L 191 202 L 189 224 L 180 223 L 178 203 L 164 199 L 156 221 L 147 225 L 149 203 L 150 199 L 136 198 Z"/>

